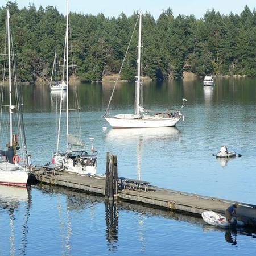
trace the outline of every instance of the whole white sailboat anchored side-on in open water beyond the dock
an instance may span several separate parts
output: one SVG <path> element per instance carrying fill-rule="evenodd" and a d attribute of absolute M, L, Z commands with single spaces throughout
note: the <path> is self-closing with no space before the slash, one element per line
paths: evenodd
<path fill-rule="evenodd" d="M 113 97 L 110 97 L 108 107 L 104 114 L 104 118 L 113 128 L 147 128 L 147 127 L 171 127 L 175 126 L 180 121 L 183 115 L 181 109 L 171 109 L 164 111 L 147 110 L 142 106 L 142 82 L 141 82 L 141 34 L 142 34 L 142 14 L 139 14 L 139 35 L 138 35 L 138 59 L 137 59 L 137 76 L 136 76 L 136 89 L 135 89 L 135 113 L 134 114 L 117 114 L 110 115 L 109 105 Z M 119 74 L 121 71 L 119 72 Z M 118 76 L 119 77 L 119 76 Z M 116 85 L 116 83 L 115 83 Z"/>

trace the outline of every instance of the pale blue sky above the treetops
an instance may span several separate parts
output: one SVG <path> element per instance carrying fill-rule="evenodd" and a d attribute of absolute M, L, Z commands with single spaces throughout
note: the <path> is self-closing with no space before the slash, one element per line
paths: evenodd
<path fill-rule="evenodd" d="M 12 0 L 14 1 L 14 0 Z M 1 1 L 5 3 L 7 0 Z M 36 8 L 40 5 L 56 6 L 60 13 L 65 13 L 65 0 L 16 0 L 19 8 L 28 7 L 29 3 L 34 3 Z M 179 14 L 194 14 L 197 19 L 203 17 L 206 11 L 220 11 L 221 14 L 237 13 L 240 14 L 245 5 L 251 11 L 256 8 L 256 0 L 69 0 L 69 10 L 82 14 L 103 13 L 106 17 L 117 17 L 122 12 L 127 16 L 134 11 L 150 12 L 155 19 L 158 19 L 163 10 L 171 7 L 174 16 Z"/>

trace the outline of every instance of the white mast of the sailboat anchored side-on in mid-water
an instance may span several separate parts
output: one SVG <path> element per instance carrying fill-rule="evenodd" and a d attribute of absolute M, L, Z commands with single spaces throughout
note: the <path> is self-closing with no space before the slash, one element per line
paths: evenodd
<path fill-rule="evenodd" d="M 141 19 L 142 13 L 139 14 L 139 36 L 138 36 L 138 59 L 137 59 L 137 88 L 135 96 L 135 114 L 139 115 L 139 102 L 141 95 Z"/>

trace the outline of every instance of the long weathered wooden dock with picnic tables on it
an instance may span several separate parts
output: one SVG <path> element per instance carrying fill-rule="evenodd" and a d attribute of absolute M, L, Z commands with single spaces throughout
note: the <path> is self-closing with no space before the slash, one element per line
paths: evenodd
<path fill-rule="evenodd" d="M 35 170 L 34 175 L 41 183 L 60 185 L 105 196 L 105 177 L 80 176 L 58 171 L 52 172 L 43 170 L 43 168 Z M 201 213 L 205 210 L 213 210 L 223 215 L 229 205 L 237 203 L 236 212 L 238 219 L 245 222 L 246 226 L 256 227 L 256 205 L 164 189 L 148 184 L 146 191 L 144 187 L 140 189 L 138 185 L 131 185 L 130 187 L 126 185 L 124 187 L 121 182 L 118 184 L 118 200 L 133 201 L 138 204 L 147 204 L 152 207 L 171 209 L 197 216 L 201 216 Z"/>

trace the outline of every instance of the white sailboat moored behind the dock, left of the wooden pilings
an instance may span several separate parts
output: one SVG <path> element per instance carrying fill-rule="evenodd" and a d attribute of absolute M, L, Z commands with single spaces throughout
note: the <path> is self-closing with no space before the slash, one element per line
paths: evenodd
<path fill-rule="evenodd" d="M 59 127 L 57 132 L 57 149 L 55 154 L 53 154 L 52 163 L 56 168 L 60 170 L 71 172 L 79 175 L 95 175 L 97 170 L 97 151 L 93 148 L 93 138 L 90 138 L 91 141 L 91 153 L 89 154 L 86 151 L 85 144 L 82 142 L 81 135 L 73 135 L 69 133 L 69 82 L 68 82 L 68 0 L 67 4 L 67 17 L 66 17 L 66 34 L 65 34 L 65 52 L 64 52 L 64 67 L 66 68 L 66 81 L 67 84 L 67 94 L 66 94 L 66 121 L 67 121 L 67 130 L 66 130 L 66 138 L 67 138 L 67 148 L 66 151 L 60 153 L 60 126 L 61 126 L 61 112 L 63 105 L 63 90 L 61 90 L 61 98 L 60 98 L 60 115 L 59 115 Z M 73 67 L 73 65 L 72 65 Z M 63 75 L 64 82 L 64 75 Z M 78 102 L 77 102 L 78 105 Z M 80 108 L 72 109 L 73 111 L 77 111 L 79 115 Z M 77 121 L 77 126 L 80 126 L 80 119 Z M 79 127 L 79 132 L 81 132 Z"/>

